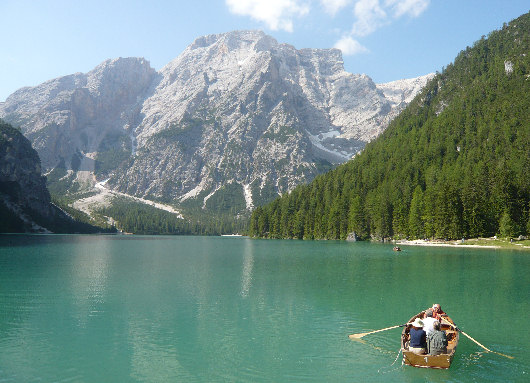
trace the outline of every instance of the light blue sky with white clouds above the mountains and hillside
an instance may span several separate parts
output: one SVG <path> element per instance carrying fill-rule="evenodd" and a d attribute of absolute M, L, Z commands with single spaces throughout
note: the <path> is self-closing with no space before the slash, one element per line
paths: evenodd
<path fill-rule="evenodd" d="M 110 58 L 156 70 L 197 37 L 259 29 L 301 48 L 339 48 L 376 83 L 441 71 L 528 12 L 528 0 L 0 0 L 0 102 Z"/>

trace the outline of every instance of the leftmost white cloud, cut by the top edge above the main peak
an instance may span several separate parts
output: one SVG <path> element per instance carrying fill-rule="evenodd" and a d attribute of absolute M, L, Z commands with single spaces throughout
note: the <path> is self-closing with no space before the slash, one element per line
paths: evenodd
<path fill-rule="evenodd" d="M 293 31 L 293 19 L 309 13 L 303 0 L 225 0 L 230 12 L 264 22 L 272 30 Z"/>

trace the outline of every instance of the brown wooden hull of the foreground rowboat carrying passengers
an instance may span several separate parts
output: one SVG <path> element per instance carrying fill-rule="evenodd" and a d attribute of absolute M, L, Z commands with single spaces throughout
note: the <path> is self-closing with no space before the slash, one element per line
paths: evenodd
<path fill-rule="evenodd" d="M 414 319 L 423 319 L 423 313 L 414 315 L 410 318 L 408 324 L 403 328 L 401 333 L 401 352 L 403 353 L 403 364 L 414 367 L 425 367 L 425 368 L 449 368 L 455 355 L 456 346 L 458 345 L 458 331 L 456 331 L 454 322 L 448 316 L 443 317 L 441 321 L 441 330 L 445 331 L 447 336 L 447 354 L 440 355 L 421 355 L 415 354 L 409 351 L 409 332 L 411 329 L 411 323 Z"/>

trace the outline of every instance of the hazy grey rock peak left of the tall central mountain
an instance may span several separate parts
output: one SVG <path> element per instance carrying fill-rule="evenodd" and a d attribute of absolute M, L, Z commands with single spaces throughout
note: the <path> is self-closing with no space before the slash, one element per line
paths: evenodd
<path fill-rule="evenodd" d="M 30 139 L 45 169 L 63 162 L 76 169 L 86 153 L 97 152 L 109 135 L 134 123 L 144 94 L 156 77 L 138 58 L 107 60 L 77 73 L 22 88 L 0 106 L 0 116 Z"/>

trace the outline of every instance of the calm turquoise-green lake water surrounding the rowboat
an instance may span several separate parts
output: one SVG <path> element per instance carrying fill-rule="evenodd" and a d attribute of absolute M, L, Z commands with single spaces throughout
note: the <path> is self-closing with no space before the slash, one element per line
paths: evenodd
<path fill-rule="evenodd" d="M 530 253 L 233 237 L 0 236 L 0 382 L 530 381 Z M 440 303 L 448 370 L 401 365 Z"/>

